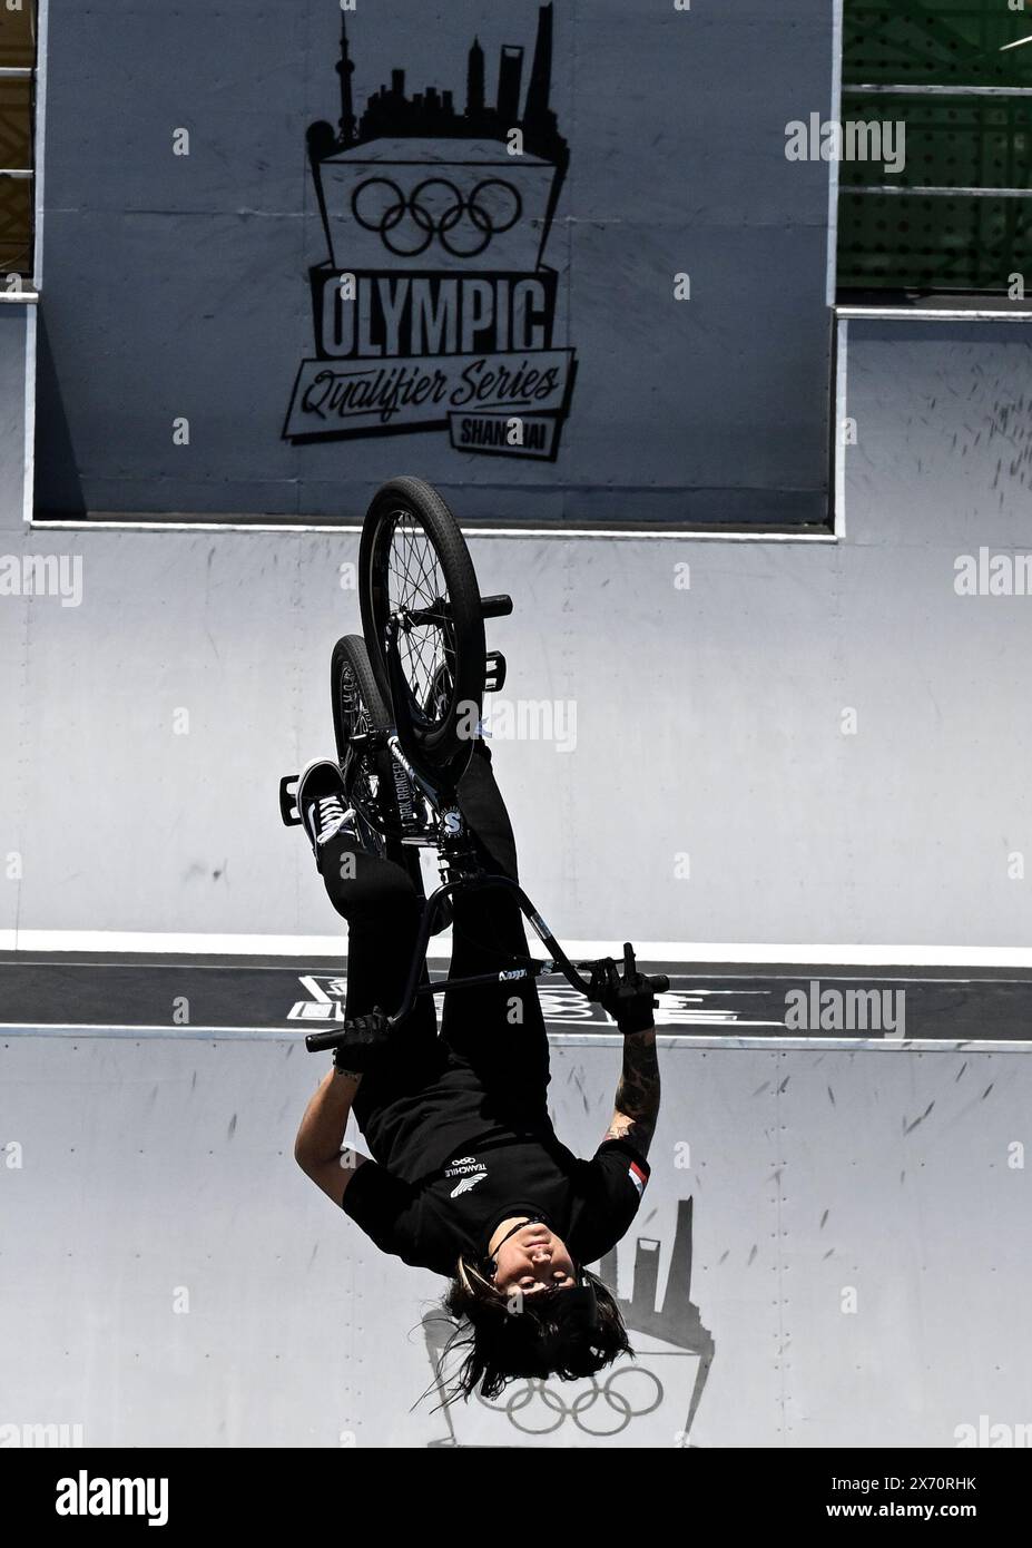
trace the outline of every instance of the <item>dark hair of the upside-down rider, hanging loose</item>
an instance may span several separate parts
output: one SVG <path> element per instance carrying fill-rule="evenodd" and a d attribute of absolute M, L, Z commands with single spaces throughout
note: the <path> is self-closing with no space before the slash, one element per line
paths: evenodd
<path fill-rule="evenodd" d="M 455 1322 L 439 1368 L 453 1350 L 466 1350 L 447 1399 L 469 1398 L 478 1387 L 481 1398 L 497 1398 L 509 1381 L 520 1376 L 579 1381 L 594 1376 L 620 1354 L 634 1354 L 627 1337 L 616 1297 L 602 1280 L 580 1268 L 582 1285 L 594 1289 L 596 1325 L 571 1325 L 559 1314 L 569 1289 L 549 1289 L 520 1296 L 498 1289 L 483 1269 L 460 1257 L 455 1279 L 444 1297 L 444 1310 Z"/>

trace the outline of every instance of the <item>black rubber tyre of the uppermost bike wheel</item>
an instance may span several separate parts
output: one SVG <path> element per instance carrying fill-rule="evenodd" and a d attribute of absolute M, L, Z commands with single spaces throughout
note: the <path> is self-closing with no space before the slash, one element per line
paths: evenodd
<path fill-rule="evenodd" d="M 410 647 L 410 661 L 402 672 L 405 690 L 391 694 L 387 664 L 387 638 L 391 611 L 405 605 L 405 580 L 391 576 L 391 548 L 401 523 L 404 531 L 429 545 L 444 584 L 449 622 L 438 628 L 439 639 L 425 667 L 422 681 L 422 650 Z M 436 579 L 436 576 L 435 576 Z M 391 593 L 391 580 L 395 591 Z M 391 478 L 373 495 L 359 545 L 359 607 L 370 663 L 384 700 L 391 704 L 402 748 L 424 760 L 438 772 L 446 771 L 458 783 L 473 748 L 470 728 L 480 723 L 484 698 L 487 647 L 480 587 L 473 562 L 455 515 L 432 485 L 422 478 Z M 422 627 L 422 625 L 421 625 Z M 424 638 L 432 635 L 425 628 Z M 418 663 L 418 664 L 416 664 Z M 447 695 L 436 695 L 433 714 L 427 714 L 435 663 L 444 663 L 450 675 Z M 401 701 L 399 701 L 401 700 Z"/>

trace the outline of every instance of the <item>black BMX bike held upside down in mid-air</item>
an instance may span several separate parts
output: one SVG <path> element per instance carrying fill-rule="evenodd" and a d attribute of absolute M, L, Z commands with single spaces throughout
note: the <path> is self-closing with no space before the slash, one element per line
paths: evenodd
<path fill-rule="evenodd" d="M 469 548 L 450 509 L 421 478 L 391 478 L 373 497 L 359 543 L 362 636 L 333 647 L 333 729 L 348 805 L 362 842 L 402 865 L 424 898 L 405 989 L 387 1028 L 410 1015 L 416 998 L 486 983 L 562 974 L 594 1000 L 591 977 L 607 958 L 572 963 L 526 892 L 487 872 L 458 805 L 458 783 L 481 731 L 484 694 L 506 680 L 506 661 L 487 650 L 484 619 L 512 613 L 509 596 L 481 596 Z M 300 824 L 297 776 L 280 780 L 280 816 Z M 418 851 L 435 848 L 441 884 L 427 898 Z M 430 981 L 430 937 L 450 918 L 463 889 L 507 889 L 548 957 L 512 957 L 500 972 Z M 670 988 L 658 974 L 656 992 Z M 309 1053 L 347 1046 L 351 1023 L 311 1033 Z"/>

